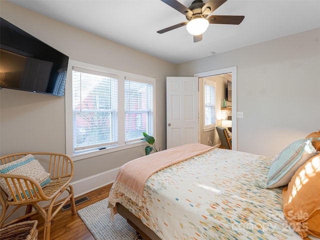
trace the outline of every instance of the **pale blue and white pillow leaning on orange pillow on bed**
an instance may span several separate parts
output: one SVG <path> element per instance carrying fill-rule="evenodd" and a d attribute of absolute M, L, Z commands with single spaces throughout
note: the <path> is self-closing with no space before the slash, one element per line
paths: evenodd
<path fill-rule="evenodd" d="M 315 154 L 311 140 L 311 137 L 296 140 L 274 158 L 267 175 L 266 188 L 288 184 L 294 172 Z"/>

